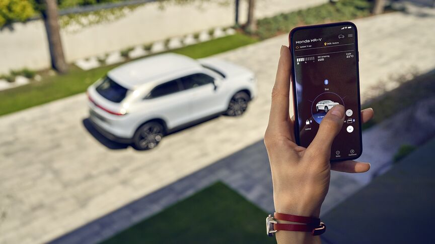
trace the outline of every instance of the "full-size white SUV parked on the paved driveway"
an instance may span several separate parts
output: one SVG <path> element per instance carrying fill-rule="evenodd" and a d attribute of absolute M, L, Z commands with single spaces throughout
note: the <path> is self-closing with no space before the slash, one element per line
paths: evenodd
<path fill-rule="evenodd" d="M 168 53 L 109 71 L 88 88 L 88 104 L 101 134 L 146 150 L 206 117 L 243 114 L 255 95 L 254 73 L 246 68 Z"/>

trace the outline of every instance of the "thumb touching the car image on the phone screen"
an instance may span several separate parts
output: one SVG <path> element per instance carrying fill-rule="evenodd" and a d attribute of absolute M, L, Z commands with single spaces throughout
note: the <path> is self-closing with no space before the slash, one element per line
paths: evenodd
<path fill-rule="evenodd" d="M 307 150 L 316 154 L 327 153 L 329 155 L 332 142 L 343 127 L 343 119 L 344 106 L 335 105 L 332 107 L 322 119 L 319 131 Z"/>

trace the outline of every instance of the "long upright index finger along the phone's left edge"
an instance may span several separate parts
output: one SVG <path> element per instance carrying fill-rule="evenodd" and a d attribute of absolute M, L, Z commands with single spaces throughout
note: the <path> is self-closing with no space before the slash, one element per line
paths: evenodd
<path fill-rule="evenodd" d="M 283 121 L 288 121 L 290 80 L 292 74 L 292 54 L 286 46 L 281 46 L 278 70 L 272 89 L 272 104 L 270 107 L 269 126 L 278 127 Z M 285 128 L 287 129 L 287 128 Z"/>

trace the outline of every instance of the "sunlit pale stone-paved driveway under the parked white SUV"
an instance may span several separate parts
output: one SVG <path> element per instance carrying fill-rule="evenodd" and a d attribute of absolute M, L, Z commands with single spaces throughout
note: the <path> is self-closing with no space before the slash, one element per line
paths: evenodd
<path fill-rule="evenodd" d="M 429 13 L 355 21 L 363 94 L 412 66 L 435 67 L 429 38 L 435 15 Z M 0 117 L 0 243 L 48 241 L 261 140 L 286 43 L 282 35 L 217 55 L 256 72 L 258 97 L 244 116 L 209 120 L 152 151 L 93 137 L 85 94 Z"/>

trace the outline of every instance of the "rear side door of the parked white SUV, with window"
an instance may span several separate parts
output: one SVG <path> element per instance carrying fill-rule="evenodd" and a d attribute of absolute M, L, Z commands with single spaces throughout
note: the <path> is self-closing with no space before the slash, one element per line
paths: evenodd
<path fill-rule="evenodd" d="M 145 98 L 149 111 L 166 121 L 169 129 L 189 121 L 189 96 L 183 91 L 180 79 L 171 80 L 153 88 Z"/>

